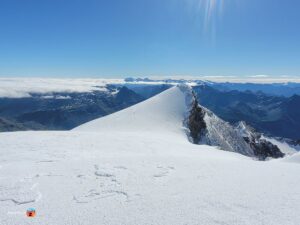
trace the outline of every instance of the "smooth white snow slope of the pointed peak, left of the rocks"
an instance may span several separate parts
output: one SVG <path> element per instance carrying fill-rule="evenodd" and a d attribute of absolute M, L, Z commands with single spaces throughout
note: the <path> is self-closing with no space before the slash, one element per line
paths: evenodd
<path fill-rule="evenodd" d="M 117 113 L 83 124 L 74 131 L 164 132 L 186 138 L 183 120 L 191 90 L 176 86 Z"/>

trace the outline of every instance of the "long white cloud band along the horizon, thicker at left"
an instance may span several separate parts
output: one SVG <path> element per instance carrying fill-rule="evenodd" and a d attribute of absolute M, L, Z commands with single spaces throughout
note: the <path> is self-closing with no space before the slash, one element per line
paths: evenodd
<path fill-rule="evenodd" d="M 300 83 L 300 76 L 156 76 L 150 77 L 155 82 L 152 84 L 163 84 L 164 79 L 174 80 L 205 80 L 213 82 L 231 83 Z M 30 97 L 31 93 L 45 94 L 46 97 L 65 98 L 66 96 L 53 96 L 54 92 L 91 92 L 105 91 L 106 84 L 122 84 L 123 79 L 53 79 L 53 78 L 0 78 L 0 97 L 22 98 Z M 151 82 L 139 82 L 151 84 Z M 176 84 L 176 82 L 173 82 Z"/>

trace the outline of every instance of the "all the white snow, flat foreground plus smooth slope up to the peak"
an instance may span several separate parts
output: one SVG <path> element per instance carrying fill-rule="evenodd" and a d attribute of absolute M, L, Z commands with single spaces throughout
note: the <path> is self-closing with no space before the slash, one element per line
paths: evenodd
<path fill-rule="evenodd" d="M 176 87 L 73 131 L 1 133 L 0 224 L 300 224 L 300 165 L 190 143 L 185 106 Z"/>

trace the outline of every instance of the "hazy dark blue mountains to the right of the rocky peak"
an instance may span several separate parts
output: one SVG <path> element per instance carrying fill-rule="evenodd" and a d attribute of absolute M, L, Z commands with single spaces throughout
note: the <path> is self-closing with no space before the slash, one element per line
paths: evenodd
<path fill-rule="evenodd" d="M 232 124 L 246 121 L 271 136 L 300 139 L 300 96 L 279 97 L 263 92 L 220 91 L 194 87 L 201 105 Z"/>

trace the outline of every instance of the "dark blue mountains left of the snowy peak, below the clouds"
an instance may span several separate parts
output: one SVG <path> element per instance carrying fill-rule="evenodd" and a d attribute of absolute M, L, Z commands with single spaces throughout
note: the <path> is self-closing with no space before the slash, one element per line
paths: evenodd
<path fill-rule="evenodd" d="M 0 98 L 0 131 L 69 130 L 145 99 L 126 87 L 110 85 L 107 89 Z"/>

